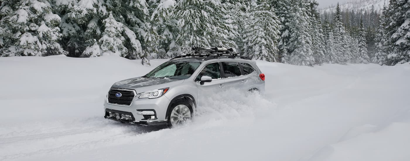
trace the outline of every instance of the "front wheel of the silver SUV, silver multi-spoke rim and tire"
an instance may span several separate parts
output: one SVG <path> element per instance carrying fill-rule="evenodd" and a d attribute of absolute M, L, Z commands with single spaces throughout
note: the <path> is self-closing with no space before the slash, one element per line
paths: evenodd
<path fill-rule="evenodd" d="M 185 125 L 187 122 L 191 121 L 193 118 L 192 107 L 189 103 L 185 101 L 175 102 L 168 116 L 168 127 L 178 127 L 180 125 Z"/>

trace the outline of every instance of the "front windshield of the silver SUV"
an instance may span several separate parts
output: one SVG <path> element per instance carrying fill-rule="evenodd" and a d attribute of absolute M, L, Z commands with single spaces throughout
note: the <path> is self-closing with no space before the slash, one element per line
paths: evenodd
<path fill-rule="evenodd" d="M 144 77 L 187 79 L 195 72 L 200 62 L 167 61 Z"/>

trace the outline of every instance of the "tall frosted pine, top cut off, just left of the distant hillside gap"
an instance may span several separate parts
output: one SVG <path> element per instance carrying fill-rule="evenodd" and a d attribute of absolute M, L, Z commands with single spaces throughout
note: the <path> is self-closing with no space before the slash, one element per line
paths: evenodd
<path fill-rule="evenodd" d="M 290 19 L 288 62 L 294 65 L 313 66 L 315 60 L 312 51 L 312 37 L 310 35 L 309 17 L 307 15 L 308 3 L 305 0 L 294 0 Z"/>

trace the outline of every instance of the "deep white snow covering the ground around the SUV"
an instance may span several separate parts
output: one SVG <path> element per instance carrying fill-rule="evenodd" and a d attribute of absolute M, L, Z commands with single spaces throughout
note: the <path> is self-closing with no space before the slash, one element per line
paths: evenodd
<path fill-rule="evenodd" d="M 112 83 L 166 60 L 0 57 L 0 160 L 408 161 L 410 65 L 258 61 L 266 95 L 225 93 L 185 127 L 103 118 Z"/>

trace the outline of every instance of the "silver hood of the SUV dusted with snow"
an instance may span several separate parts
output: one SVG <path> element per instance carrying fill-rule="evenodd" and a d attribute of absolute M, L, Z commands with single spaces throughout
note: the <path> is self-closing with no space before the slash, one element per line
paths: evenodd
<path fill-rule="evenodd" d="M 146 77 L 136 77 L 125 79 L 112 85 L 113 88 L 128 88 L 134 89 L 138 92 L 145 92 L 145 87 L 151 87 L 149 90 L 155 90 L 160 88 L 166 88 L 173 86 L 175 84 L 180 84 L 184 80 L 180 79 L 165 79 L 165 78 L 146 78 Z M 171 83 L 172 82 L 172 83 Z M 155 88 L 155 89 L 154 89 Z"/>

